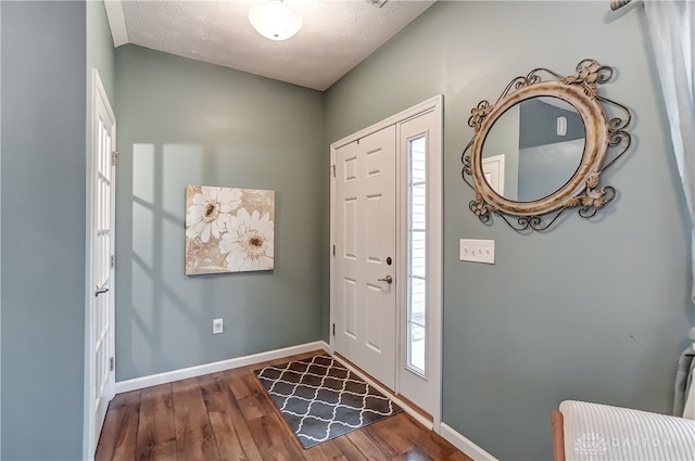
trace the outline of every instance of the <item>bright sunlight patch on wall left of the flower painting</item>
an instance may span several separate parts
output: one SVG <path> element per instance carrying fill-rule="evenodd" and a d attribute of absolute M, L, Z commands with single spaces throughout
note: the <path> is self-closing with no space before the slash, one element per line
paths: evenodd
<path fill-rule="evenodd" d="M 170 315 L 175 308 L 191 323 L 197 322 L 197 312 L 187 305 L 185 296 L 176 286 L 167 284 L 165 272 L 178 270 L 182 272 L 182 251 L 165 251 L 181 248 L 184 242 L 184 222 L 181 207 L 185 204 L 185 191 L 172 187 L 176 178 L 174 171 L 167 171 L 165 158 L 169 155 L 200 157 L 199 162 L 190 162 L 191 167 L 202 168 L 203 150 L 200 145 L 165 145 L 157 151 L 154 144 L 135 144 L 132 146 L 132 215 L 131 215 L 131 268 L 130 299 L 131 318 L 125 331 L 118 337 L 131 344 L 148 344 L 149 347 L 134 348 L 130 357 L 119 360 L 130 361 L 129 366 L 137 370 L 138 364 L 152 366 L 159 360 L 157 368 L 170 369 L 174 363 L 163 357 L 153 357 L 164 344 L 165 332 L 157 325 L 164 323 L 164 316 Z M 180 190 L 180 196 L 164 191 Z M 164 310 L 167 306 L 167 311 Z M 188 337 L 190 344 L 194 337 Z M 137 357 L 135 353 L 137 351 Z"/>

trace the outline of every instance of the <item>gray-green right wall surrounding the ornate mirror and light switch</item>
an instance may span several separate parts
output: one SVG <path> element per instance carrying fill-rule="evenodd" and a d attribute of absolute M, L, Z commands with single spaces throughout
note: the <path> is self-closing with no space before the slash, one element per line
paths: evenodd
<path fill-rule="evenodd" d="M 444 94 L 443 421 L 501 459 L 549 459 L 563 399 L 671 410 L 694 321 L 690 222 L 634 7 L 440 1 L 327 92 L 327 143 Z M 569 75 L 585 57 L 617 69 L 602 91 L 635 116 L 630 156 L 603 176 L 618 197 L 545 234 L 482 225 L 460 179 L 470 110 L 513 77 Z M 495 265 L 458 261 L 460 238 L 495 240 Z"/>

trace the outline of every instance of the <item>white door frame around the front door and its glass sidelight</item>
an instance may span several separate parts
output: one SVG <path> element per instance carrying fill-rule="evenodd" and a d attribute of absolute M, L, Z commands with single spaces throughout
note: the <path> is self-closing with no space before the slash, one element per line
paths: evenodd
<path fill-rule="evenodd" d="M 392 125 L 396 125 L 396 260 L 403 261 L 404 256 L 402 253 L 403 245 L 401 244 L 402 239 L 406 238 L 405 229 L 403 229 L 403 222 L 405 216 L 402 213 L 402 201 L 405 200 L 405 191 L 402 190 L 401 178 L 402 175 L 406 172 L 404 170 L 404 162 L 406 159 L 403 158 L 402 148 L 400 145 L 400 136 L 399 125 L 407 121 L 408 119 L 415 118 L 425 113 L 434 112 L 435 115 L 435 127 L 433 130 L 433 144 L 435 145 L 435 151 L 433 156 L 430 156 L 428 159 L 428 183 L 431 185 L 428 187 L 428 321 L 431 323 L 431 329 L 428 328 L 428 334 L 434 334 L 433 341 L 430 342 L 430 347 L 432 347 L 432 363 L 429 363 L 431 367 L 431 379 L 434 380 L 433 389 L 434 397 L 433 400 L 437 402 L 434 408 L 432 409 L 432 430 L 437 433 L 440 432 L 440 425 L 442 420 L 442 333 L 443 333 L 443 278 L 442 278 L 442 265 L 443 265 L 443 180 L 442 180 L 442 170 L 443 170 L 443 107 L 444 107 L 444 98 L 442 94 L 438 94 L 429 100 L 426 100 L 419 104 L 416 104 L 409 108 L 406 108 L 395 115 L 392 115 L 377 124 L 374 124 L 367 128 L 364 128 L 353 135 L 350 135 L 339 141 L 331 143 L 330 145 L 330 161 L 331 161 L 331 185 L 330 185 L 330 322 L 329 322 L 329 346 L 330 351 L 333 354 L 334 350 L 334 336 L 332 332 L 332 324 L 336 321 L 336 309 L 337 309 L 337 299 L 336 299 L 336 286 L 334 286 L 334 273 L 336 273 L 336 264 L 337 258 L 333 256 L 333 245 L 336 243 L 336 209 L 334 209 L 334 201 L 336 201 L 336 183 L 332 178 L 332 172 L 334 168 L 332 166 L 336 165 L 336 151 L 343 145 L 346 145 L 351 142 L 354 142 L 358 139 L 362 139 L 366 136 L 375 133 L 383 128 L 387 128 Z M 402 267 L 401 262 L 399 262 L 399 268 Z M 403 293 L 403 289 L 399 289 L 396 295 L 396 306 L 399 312 L 396 312 L 396 317 L 399 319 L 399 325 L 396 329 L 396 376 L 395 376 L 395 393 L 397 394 L 400 390 L 400 375 L 404 372 L 405 367 L 405 357 L 402 357 L 402 344 L 405 326 L 402 324 L 402 309 L 405 308 L 405 294 Z M 405 404 L 405 410 L 410 412 L 418 421 L 422 422 L 422 418 L 417 413 L 416 410 L 409 409 L 407 402 Z"/>

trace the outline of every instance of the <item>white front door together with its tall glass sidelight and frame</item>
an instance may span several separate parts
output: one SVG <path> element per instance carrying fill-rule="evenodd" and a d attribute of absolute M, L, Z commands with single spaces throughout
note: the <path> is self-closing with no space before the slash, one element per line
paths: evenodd
<path fill-rule="evenodd" d="M 331 347 L 439 431 L 442 97 L 331 145 Z M 387 279 L 387 280 L 384 280 Z M 389 280 L 391 283 L 389 283 Z"/>

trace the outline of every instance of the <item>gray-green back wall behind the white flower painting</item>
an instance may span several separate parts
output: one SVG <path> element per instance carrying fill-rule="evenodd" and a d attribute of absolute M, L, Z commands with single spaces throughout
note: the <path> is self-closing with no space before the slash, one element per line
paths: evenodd
<path fill-rule="evenodd" d="M 115 75 L 116 381 L 321 340 L 323 93 L 136 46 Z M 275 270 L 186 277 L 186 184 L 275 190 Z"/>

